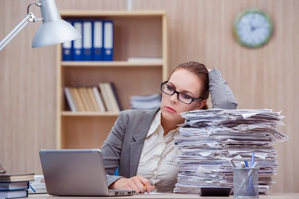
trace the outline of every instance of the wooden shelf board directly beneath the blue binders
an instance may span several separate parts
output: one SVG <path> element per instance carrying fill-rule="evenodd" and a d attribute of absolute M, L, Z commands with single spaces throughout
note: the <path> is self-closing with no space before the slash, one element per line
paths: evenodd
<path fill-rule="evenodd" d="M 63 61 L 63 67 L 162 67 L 162 62 L 127 62 L 127 61 Z"/>

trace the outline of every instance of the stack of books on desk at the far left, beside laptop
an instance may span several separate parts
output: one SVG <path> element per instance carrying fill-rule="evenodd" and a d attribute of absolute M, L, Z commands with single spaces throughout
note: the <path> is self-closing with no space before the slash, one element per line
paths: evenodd
<path fill-rule="evenodd" d="M 33 180 L 34 174 L 0 174 L 0 198 L 28 197 L 29 181 Z"/>

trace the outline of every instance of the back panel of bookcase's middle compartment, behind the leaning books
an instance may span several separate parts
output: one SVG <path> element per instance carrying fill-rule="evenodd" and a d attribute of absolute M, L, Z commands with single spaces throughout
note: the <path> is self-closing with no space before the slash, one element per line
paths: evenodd
<path fill-rule="evenodd" d="M 122 109 L 130 109 L 131 96 L 160 93 L 161 70 L 161 67 L 120 67 L 117 69 L 116 67 L 67 67 L 63 70 L 65 74 L 63 85 L 67 87 L 99 87 L 100 82 L 112 82 Z M 65 99 L 64 103 L 66 103 Z"/>

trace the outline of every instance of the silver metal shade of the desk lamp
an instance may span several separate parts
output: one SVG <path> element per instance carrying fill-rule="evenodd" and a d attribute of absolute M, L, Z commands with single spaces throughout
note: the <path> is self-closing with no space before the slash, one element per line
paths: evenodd
<path fill-rule="evenodd" d="M 42 25 L 37 29 L 32 48 L 59 44 L 82 38 L 68 22 L 61 19 L 55 0 L 40 0 Z"/>

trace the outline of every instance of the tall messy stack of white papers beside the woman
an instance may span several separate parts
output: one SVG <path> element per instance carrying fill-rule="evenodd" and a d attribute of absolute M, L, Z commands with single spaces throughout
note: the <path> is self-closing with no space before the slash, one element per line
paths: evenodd
<path fill-rule="evenodd" d="M 288 139 L 277 130 L 285 116 L 270 109 L 194 110 L 181 113 L 185 118 L 174 138 L 175 147 L 183 154 L 179 159 L 179 174 L 174 193 L 198 194 L 203 186 L 233 187 L 230 161 L 240 167 L 252 153 L 258 162 L 259 192 L 268 193 L 277 173 L 275 142 Z"/>

